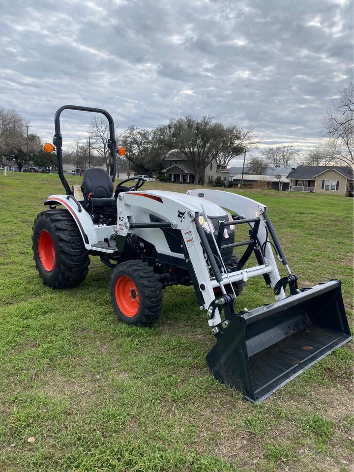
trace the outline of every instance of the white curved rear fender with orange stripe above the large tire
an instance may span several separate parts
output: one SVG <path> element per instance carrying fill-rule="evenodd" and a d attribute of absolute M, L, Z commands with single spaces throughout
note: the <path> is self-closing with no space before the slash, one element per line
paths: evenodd
<path fill-rule="evenodd" d="M 81 207 L 79 202 L 76 202 L 68 195 L 50 195 L 44 202 L 45 206 L 56 204 L 62 205 L 71 213 L 79 228 L 86 249 L 91 249 L 93 244 L 98 243 L 93 222 L 87 211 Z"/>

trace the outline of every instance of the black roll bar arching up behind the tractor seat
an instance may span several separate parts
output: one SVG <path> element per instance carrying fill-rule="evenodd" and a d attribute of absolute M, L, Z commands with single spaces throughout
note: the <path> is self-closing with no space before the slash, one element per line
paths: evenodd
<path fill-rule="evenodd" d="M 79 107 L 76 105 L 64 105 L 60 107 L 54 116 L 54 128 L 55 128 L 55 135 L 53 137 L 53 144 L 57 150 L 57 165 L 58 165 L 58 174 L 65 189 L 66 195 L 72 195 L 72 191 L 67 183 L 66 178 L 64 177 L 63 167 L 62 167 L 62 136 L 60 133 L 60 114 L 63 110 L 79 110 L 82 112 L 92 112 L 92 113 L 101 113 L 104 115 L 109 124 L 110 130 L 110 137 L 107 143 L 107 147 L 110 149 L 111 157 L 110 157 L 110 174 L 111 180 L 114 182 L 116 177 L 116 139 L 115 139 L 115 131 L 114 131 L 114 122 L 111 115 L 103 110 L 102 108 L 91 108 L 91 107 Z"/>

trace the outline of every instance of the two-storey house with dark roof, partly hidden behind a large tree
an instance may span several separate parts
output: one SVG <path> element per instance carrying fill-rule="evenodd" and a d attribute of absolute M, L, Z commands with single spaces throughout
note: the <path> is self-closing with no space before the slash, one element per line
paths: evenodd
<path fill-rule="evenodd" d="M 172 153 L 173 152 L 173 153 Z M 171 151 L 165 159 L 163 173 L 169 177 L 169 182 L 197 183 L 190 162 L 186 156 L 178 151 Z M 212 185 L 217 177 L 220 177 L 226 186 L 229 185 L 230 172 L 226 165 L 219 164 L 214 158 L 206 167 L 200 171 L 200 182 Z"/>

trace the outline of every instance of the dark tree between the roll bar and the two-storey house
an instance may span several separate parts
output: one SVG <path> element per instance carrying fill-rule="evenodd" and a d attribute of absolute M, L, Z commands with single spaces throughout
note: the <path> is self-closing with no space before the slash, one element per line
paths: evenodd
<path fill-rule="evenodd" d="M 149 131 L 128 126 L 121 136 L 121 143 L 134 171 L 152 176 L 164 168 L 167 152 L 164 127 Z"/>

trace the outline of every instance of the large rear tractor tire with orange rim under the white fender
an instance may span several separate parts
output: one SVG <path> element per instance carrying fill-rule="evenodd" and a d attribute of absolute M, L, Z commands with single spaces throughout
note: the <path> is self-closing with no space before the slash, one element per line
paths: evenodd
<path fill-rule="evenodd" d="M 89 252 L 67 210 L 52 209 L 37 215 L 32 250 L 39 277 L 52 289 L 76 287 L 89 272 Z"/>

